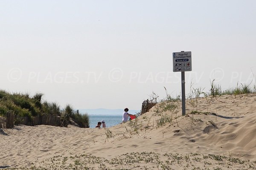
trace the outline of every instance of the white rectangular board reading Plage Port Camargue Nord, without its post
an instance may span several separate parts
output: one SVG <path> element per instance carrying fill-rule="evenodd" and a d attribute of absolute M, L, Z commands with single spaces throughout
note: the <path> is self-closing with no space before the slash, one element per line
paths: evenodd
<path fill-rule="evenodd" d="M 192 71 L 191 51 L 174 52 L 173 58 L 173 72 Z"/>

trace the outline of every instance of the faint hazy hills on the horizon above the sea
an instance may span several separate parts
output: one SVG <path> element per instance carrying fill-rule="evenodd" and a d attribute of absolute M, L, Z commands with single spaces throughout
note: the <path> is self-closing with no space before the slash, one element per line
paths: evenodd
<path fill-rule="evenodd" d="M 124 112 L 123 109 L 79 109 L 79 113 L 88 113 L 89 115 L 122 115 Z M 136 114 L 140 111 L 138 110 L 129 110 L 128 113 Z"/>

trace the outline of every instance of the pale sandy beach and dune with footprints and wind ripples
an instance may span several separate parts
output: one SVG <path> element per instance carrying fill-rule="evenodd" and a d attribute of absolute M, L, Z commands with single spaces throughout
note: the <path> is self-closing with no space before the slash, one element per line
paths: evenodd
<path fill-rule="evenodd" d="M 158 103 L 108 129 L 19 125 L 0 131 L 0 167 L 256 169 L 256 94 Z M 175 105 L 175 109 L 169 106 Z M 107 123 L 107 122 L 106 122 Z M 25 168 L 25 169 L 26 169 Z"/>

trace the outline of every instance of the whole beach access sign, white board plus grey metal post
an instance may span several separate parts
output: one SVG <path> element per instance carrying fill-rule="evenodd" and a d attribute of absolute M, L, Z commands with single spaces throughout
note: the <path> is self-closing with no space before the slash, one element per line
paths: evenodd
<path fill-rule="evenodd" d="M 191 51 L 181 51 L 172 53 L 173 72 L 181 72 L 181 102 L 182 115 L 186 115 L 185 105 L 185 71 L 192 71 Z"/>

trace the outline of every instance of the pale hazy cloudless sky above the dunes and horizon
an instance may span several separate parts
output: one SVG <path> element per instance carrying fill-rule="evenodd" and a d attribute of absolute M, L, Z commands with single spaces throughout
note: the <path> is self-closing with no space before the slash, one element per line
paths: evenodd
<path fill-rule="evenodd" d="M 0 0 L 0 88 L 77 109 L 140 110 L 164 87 L 180 94 L 179 51 L 192 51 L 186 93 L 214 78 L 224 89 L 248 84 L 255 9 L 256 0 Z"/>

